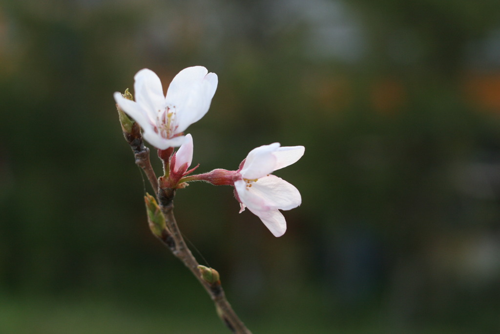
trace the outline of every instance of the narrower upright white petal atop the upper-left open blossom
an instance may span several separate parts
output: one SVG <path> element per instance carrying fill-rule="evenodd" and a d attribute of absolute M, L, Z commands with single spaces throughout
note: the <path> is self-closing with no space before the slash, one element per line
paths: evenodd
<path fill-rule="evenodd" d="M 161 81 L 148 69 L 140 70 L 133 78 L 135 101 L 150 115 L 149 117 L 156 119 L 158 111 L 165 107 Z"/>

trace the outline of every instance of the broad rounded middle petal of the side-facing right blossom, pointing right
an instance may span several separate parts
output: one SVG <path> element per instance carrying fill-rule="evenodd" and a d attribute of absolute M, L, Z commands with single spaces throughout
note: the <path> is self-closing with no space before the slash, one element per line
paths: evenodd
<path fill-rule="evenodd" d="M 265 206 L 281 210 L 293 209 L 302 202 L 297 188 L 274 175 L 264 176 L 256 182 L 252 182 L 251 187 L 247 188 L 245 196 L 247 200 L 258 197 Z M 251 208 L 251 205 L 247 206 Z"/>

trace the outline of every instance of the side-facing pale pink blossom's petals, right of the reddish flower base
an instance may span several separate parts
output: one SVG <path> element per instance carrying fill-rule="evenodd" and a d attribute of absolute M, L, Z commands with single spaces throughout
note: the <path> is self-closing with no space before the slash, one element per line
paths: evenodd
<path fill-rule="evenodd" d="M 279 210 L 293 209 L 302 200 L 297 188 L 271 173 L 291 165 L 303 154 L 303 146 L 263 145 L 248 153 L 234 177 L 239 212 L 248 208 L 276 237 L 286 231 L 286 221 Z"/>

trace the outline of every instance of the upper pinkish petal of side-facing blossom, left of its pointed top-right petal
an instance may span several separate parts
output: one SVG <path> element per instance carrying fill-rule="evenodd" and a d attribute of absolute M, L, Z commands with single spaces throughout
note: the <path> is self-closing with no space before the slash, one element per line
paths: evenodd
<path fill-rule="evenodd" d="M 245 179 L 258 179 L 274 171 L 277 158 L 273 152 L 279 147 L 279 143 L 262 145 L 248 153 L 245 163 L 241 169 L 241 176 Z"/>

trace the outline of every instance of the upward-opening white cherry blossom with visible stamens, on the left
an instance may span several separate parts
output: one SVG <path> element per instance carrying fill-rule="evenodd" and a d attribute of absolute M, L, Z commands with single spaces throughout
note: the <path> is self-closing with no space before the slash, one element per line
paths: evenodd
<path fill-rule="evenodd" d="M 166 97 L 158 76 L 151 70 L 140 70 L 134 80 L 135 101 L 118 92 L 114 100 L 141 126 L 144 139 L 161 150 L 184 142 L 182 133 L 206 114 L 217 89 L 217 75 L 202 66 L 180 71 Z"/>

